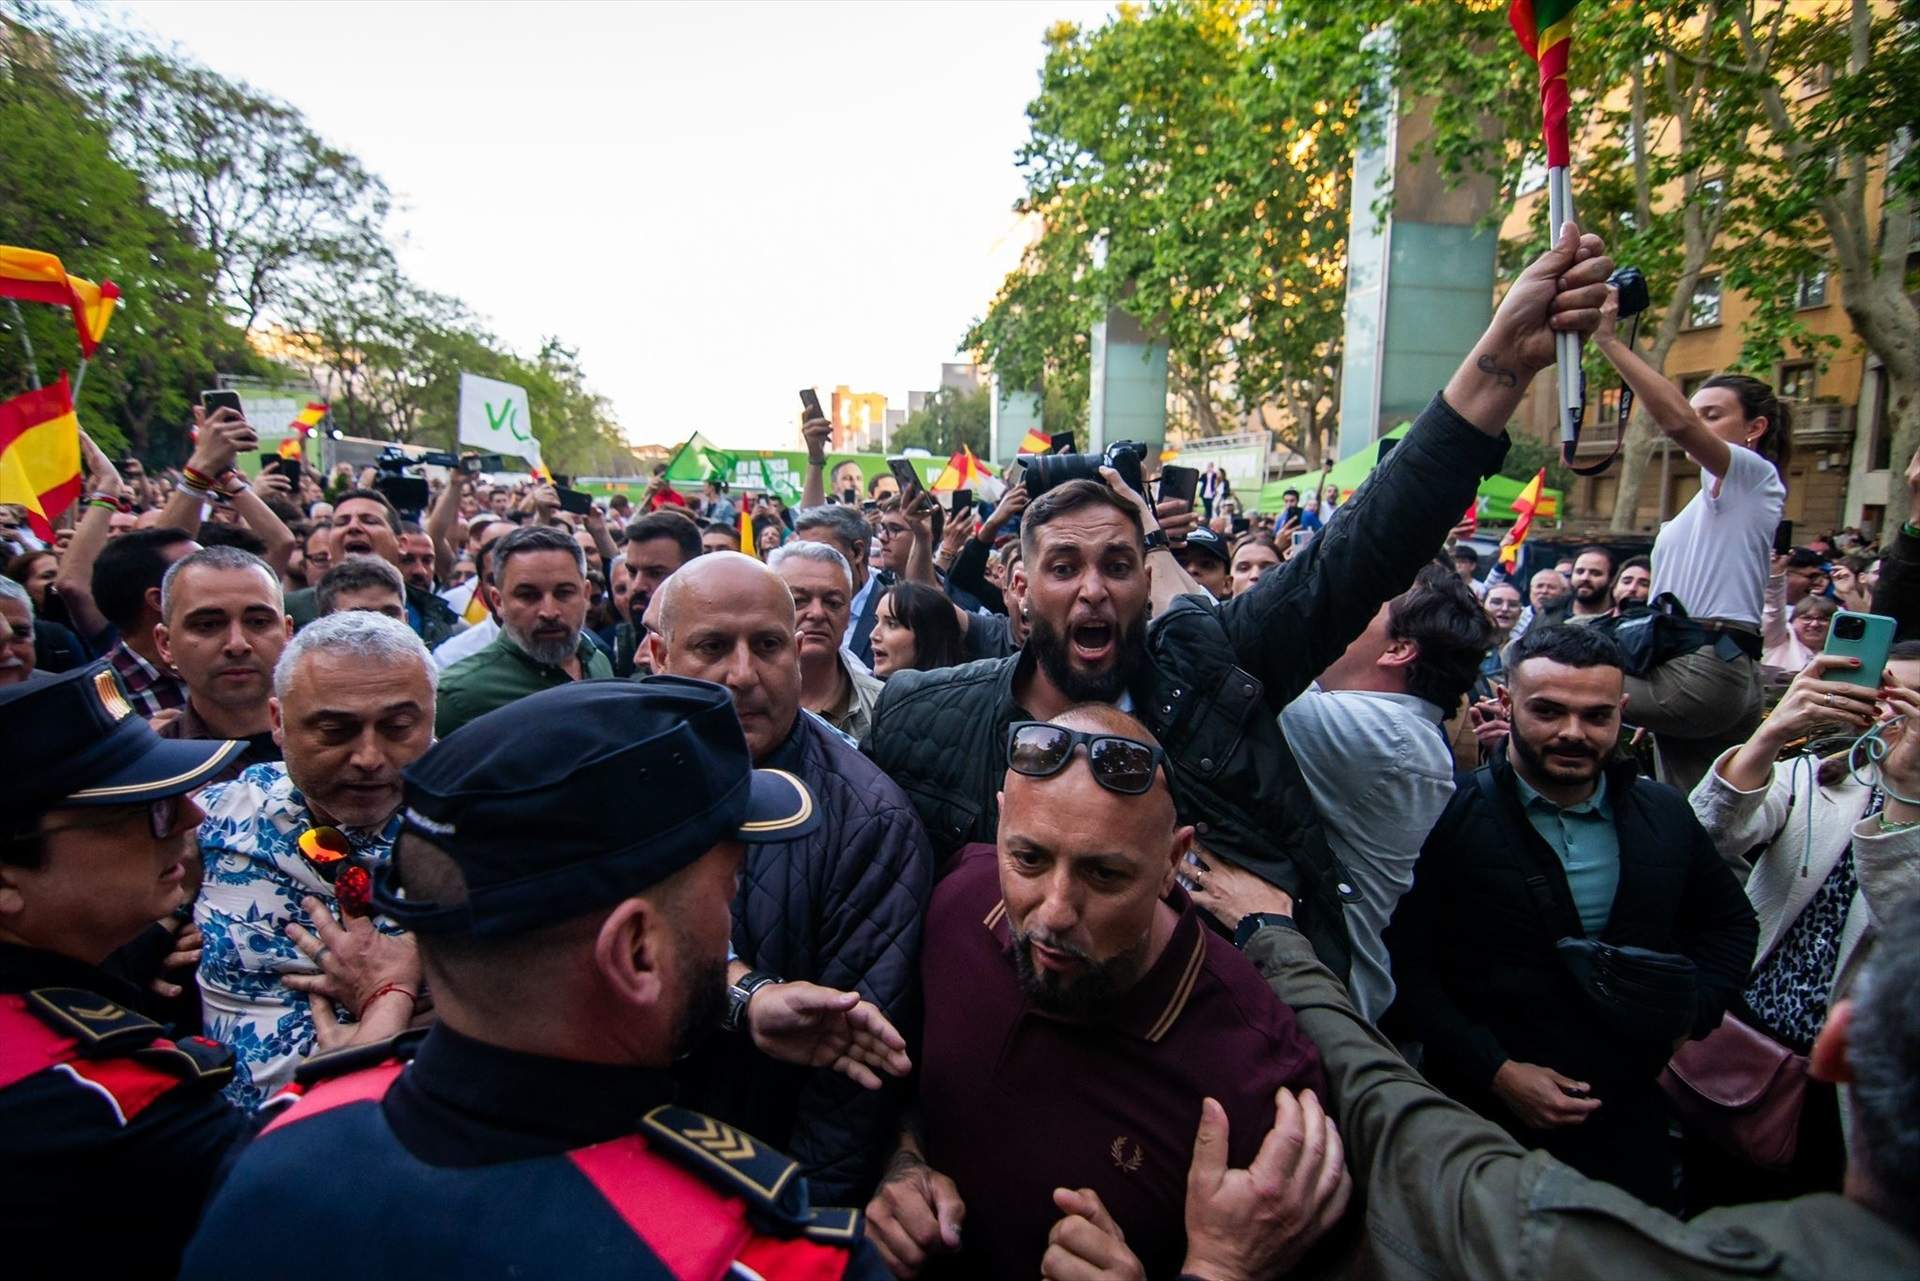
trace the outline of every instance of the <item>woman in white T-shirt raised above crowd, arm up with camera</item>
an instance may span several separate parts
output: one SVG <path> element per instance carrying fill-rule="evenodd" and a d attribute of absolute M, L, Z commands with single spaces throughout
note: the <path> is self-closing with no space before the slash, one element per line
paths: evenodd
<path fill-rule="evenodd" d="M 1701 471 L 1699 494 L 1653 542 L 1651 593 L 1678 599 L 1709 643 L 1626 678 L 1626 716 L 1653 732 L 1661 782 L 1692 791 L 1761 722 L 1761 613 L 1788 501 L 1791 411 L 1747 375 L 1715 375 L 1688 399 L 1620 342 L 1619 315 L 1609 288 L 1594 344 Z"/>

